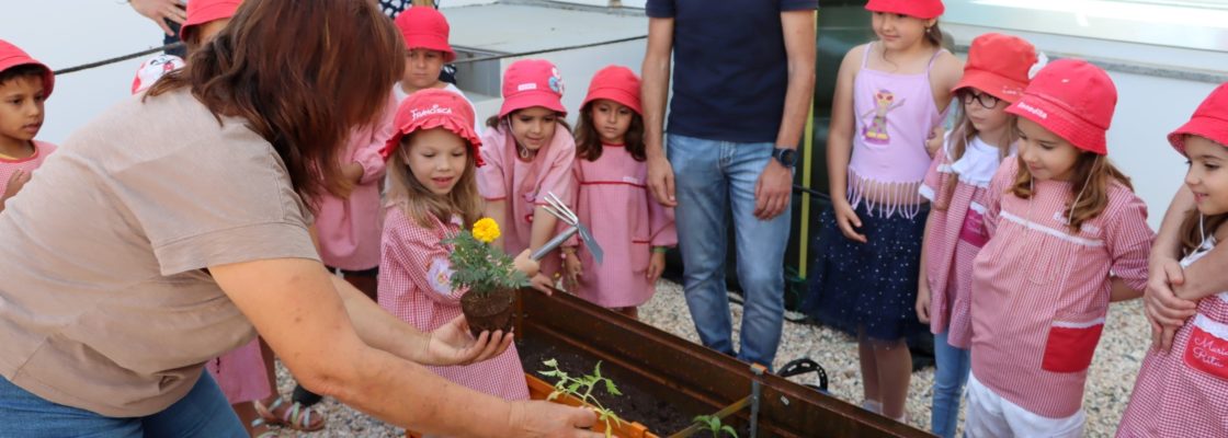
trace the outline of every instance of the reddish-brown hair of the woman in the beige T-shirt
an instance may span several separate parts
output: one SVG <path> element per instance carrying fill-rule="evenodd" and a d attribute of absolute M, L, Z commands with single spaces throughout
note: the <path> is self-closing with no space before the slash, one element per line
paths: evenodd
<path fill-rule="evenodd" d="M 183 70 L 145 98 L 188 88 L 221 121 L 273 144 L 303 199 L 349 193 L 339 155 L 375 123 L 405 58 L 400 33 L 370 0 L 246 0 Z"/>

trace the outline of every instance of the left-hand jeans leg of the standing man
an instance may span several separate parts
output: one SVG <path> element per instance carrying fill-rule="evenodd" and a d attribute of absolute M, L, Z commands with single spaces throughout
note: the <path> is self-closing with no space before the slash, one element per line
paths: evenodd
<path fill-rule="evenodd" d="M 725 286 L 728 183 L 718 141 L 668 136 L 678 207 L 678 249 L 683 290 L 695 330 L 705 346 L 733 355 L 729 298 Z"/>

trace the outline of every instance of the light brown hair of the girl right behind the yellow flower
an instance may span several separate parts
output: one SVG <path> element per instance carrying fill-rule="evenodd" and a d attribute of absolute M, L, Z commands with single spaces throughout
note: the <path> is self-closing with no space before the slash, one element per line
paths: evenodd
<path fill-rule="evenodd" d="M 447 195 L 437 195 L 431 189 L 422 185 L 414 177 L 414 171 L 409 168 L 410 145 L 414 134 L 400 139 L 397 153 L 388 157 L 388 178 L 392 184 L 388 186 L 388 199 L 400 205 L 405 216 L 420 227 L 431 227 L 431 216 L 440 222 L 448 223 L 452 215 L 459 215 L 468 228 L 481 218 L 483 200 L 478 194 L 478 162 L 473 156 L 473 147 L 465 147 L 465 166 L 460 179 Z"/>

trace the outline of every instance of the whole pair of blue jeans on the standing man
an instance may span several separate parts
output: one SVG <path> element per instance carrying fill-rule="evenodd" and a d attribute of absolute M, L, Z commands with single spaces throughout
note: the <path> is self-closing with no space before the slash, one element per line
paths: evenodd
<path fill-rule="evenodd" d="M 733 211 L 738 281 L 745 292 L 737 357 L 771 367 L 785 312 L 785 247 L 790 210 L 769 221 L 754 216 L 755 183 L 771 158 L 771 142 L 734 144 L 669 135 L 674 168 L 678 248 L 684 290 L 705 346 L 733 355 L 725 286 L 726 215 Z"/>

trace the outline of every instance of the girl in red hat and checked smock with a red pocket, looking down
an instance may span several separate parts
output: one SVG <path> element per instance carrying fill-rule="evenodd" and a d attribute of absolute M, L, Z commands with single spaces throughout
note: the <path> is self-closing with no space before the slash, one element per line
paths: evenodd
<path fill-rule="evenodd" d="M 1082 436 L 1109 302 L 1140 296 L 1154 236 L 1105 157 L 1116 102 L 1104 70 L 1063 59 L 1007 108 L 1019 155 L 990 183 L 990 239 L 973 263 L 969 436 Z"/>

